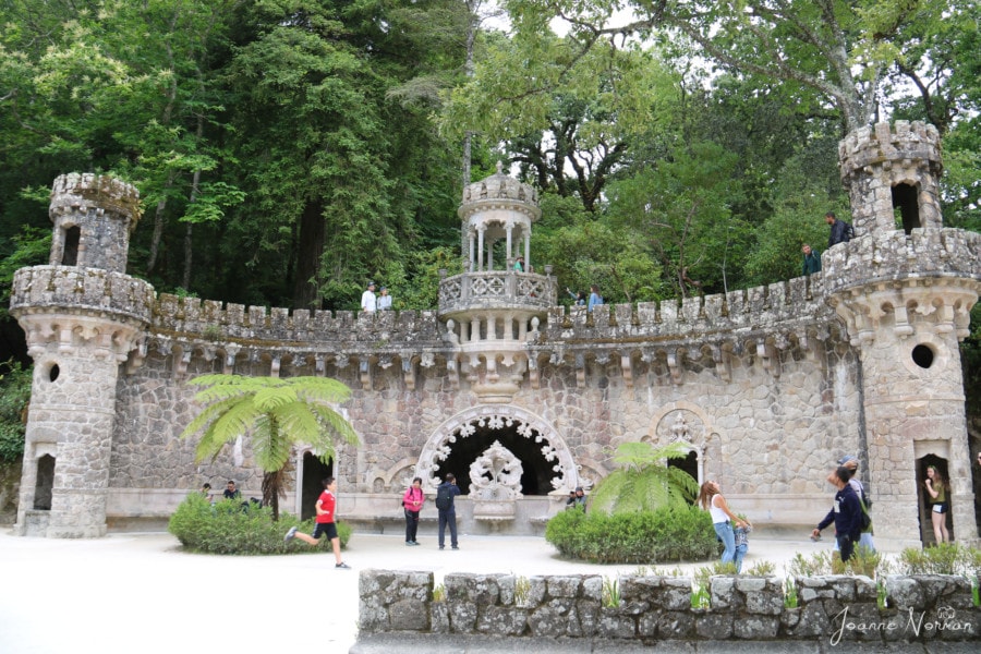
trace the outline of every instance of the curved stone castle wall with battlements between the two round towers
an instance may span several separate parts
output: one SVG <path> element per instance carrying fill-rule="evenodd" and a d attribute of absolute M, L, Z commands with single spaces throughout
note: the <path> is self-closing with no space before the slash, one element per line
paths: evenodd
<path fill-rule="evenodd" d="M 836 324 L 815 326 L 815 314 L 834 320 L 818 288 L 801 278 L 681 304 L 602 306 L 592 316 L 556 307 L 530 343 L 534 383 L 511 407 L 550 426 L 586 484 L 610 472 L 619 444 L 675 439 L 681 416 L 704 479 L 719 480 L 740 510 L 763 522 L 813 522 L 813 502 L 819 512 L 827 504 L 828 452 L 857 451 L 859 404 L 852 351 Z M 362 518 L 395 516 L 391 497 L 427 443 L 474 407 L 468 380 L 448 367 L 453 351 L 433 312 L 290 314 L 161 295 L 153 314 L 142 365 L 117 392 L 116 512 L 166 514 L 205 481 L 235 479 L 257 494 L 247 448 L 195 464 L 193 443 L 178 439 L 197 411 L 185 382 L 199 374 L 348 384 L 344 410 L 362 447 L 341 449 L 337 473 L 341 512 Z M 528 511 L 544 518 L 566 493 L 528 498 Z"/>

